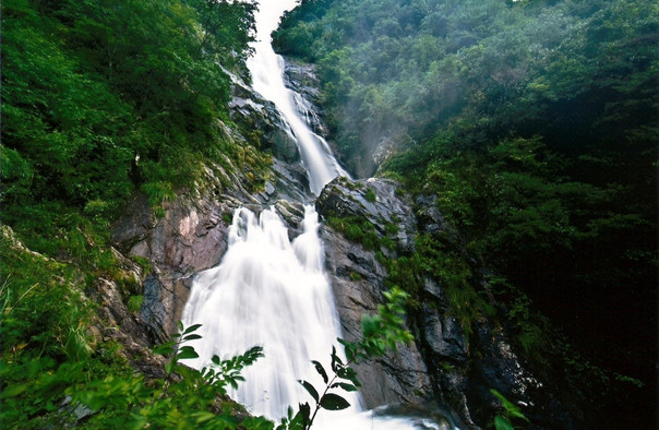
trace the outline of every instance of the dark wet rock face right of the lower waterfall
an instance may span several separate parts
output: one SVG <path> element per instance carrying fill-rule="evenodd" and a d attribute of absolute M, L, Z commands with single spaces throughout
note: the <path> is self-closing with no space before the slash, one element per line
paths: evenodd
<path fill-rule="evenodd" d="M 394 251 L 381 250 L 386 259 L 414 253 L 415 235 L 422 232 L 465 254 L 475 273 L 487 273 L 477 259 L 466 254 L 459 234 L 436 210 L 436 198 L 419 196 L 412 213 L 410 201 L 398 195 L 397 189 L 391 180 L 336 179 L 320 195 L 316 208 L 325 217 L 352 217 L 374 224 L 379 235 L 396 241 Z M 394 229 L 387 229 L 392 223 L 395 235 Z M 360 336 L 361 318 L 374 313 L 383 302 L 387 271 L 374 251 L 348 241 L 328 226 L 322 235 L 344 336 L 352 341 Z M 483 278 L 476 278 L 475 288 L 482 289 Z M 532 374 L 515 354 L 503 327 L 482 316 L 472 322 L 467 338 L 443 287 L 427 278 L 420 289 L 416 292 L 419 304 L 408 311 L 407 321 L 416 344 L 378 359 L 373 366 L 357 368 L 368 407 L 392 403 L 440 405 L 452 410 L 446 416 L 458 427 L 478 429 L 489 427 L 492 417 L 503 413 L 490 392 L 494 389 L 515 404 L 526 405 L 525 413 L 534 418 L 535 428 L 575 427 L 578 408 L 566 406 L 559 393 Z"/>

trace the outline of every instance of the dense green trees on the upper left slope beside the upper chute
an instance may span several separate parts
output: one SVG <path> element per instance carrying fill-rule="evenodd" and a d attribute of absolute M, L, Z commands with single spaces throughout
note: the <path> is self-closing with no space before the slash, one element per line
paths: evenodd
<path fill-rule="evenodd" d="M 107 220 L 135 189 L 160 207 L 203 162 L 239 164 L 223 67 L 245 73 L 254 8 L 3 2 L 3 220 L 52 201 Z"/>

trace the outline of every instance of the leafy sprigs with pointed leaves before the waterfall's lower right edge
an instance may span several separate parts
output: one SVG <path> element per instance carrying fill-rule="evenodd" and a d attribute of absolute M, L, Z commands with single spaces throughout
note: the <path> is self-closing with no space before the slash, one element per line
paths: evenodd
<path fill-rule="evenodd" d="M 322 394 L 319 394 L 310 382 L 298 381 L 315 403 L 313 413 L 309 403 L 300 404 L 295 416 L 292 416 L 292 408 L 289 407 L 288 417 L 281 419 L 277 430 L 308 430 L 320 409 L 343 410 L 350 407 L 347 399 L 333 392 L 339 389 L 345 392 L 356 392 L 361 386 L 355 369 L 350 366 L 381 357 L 390 349 L 396 350 L 398 343 L 409 343 L 414 339 L 411 333 L 405 329 L 404 303 L 409 295 L 398 287 L 393 287 L 383 294 L 386 303 L 378 307 L 376 314 L 364 315 L 361 320 L 362 338 L 354 343 L 338 339 L 345 348 L 346 362 L 336 354 L 335 347 L 332 347 L 331 355 L 332 374 L 328 374 L 319 361 L 311 361 L 325 383 Z"/>

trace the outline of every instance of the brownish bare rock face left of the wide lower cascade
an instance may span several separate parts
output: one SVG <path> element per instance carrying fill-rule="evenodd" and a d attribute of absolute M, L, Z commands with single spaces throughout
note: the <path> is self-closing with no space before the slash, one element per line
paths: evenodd
<path fill-rule="evenodd" d="M 155 219 L 148 202 L 136 198 L 113 230 L 127 255 L 147 260 L 153 270 L 143 279 L 140 315 L 152 338 L 173 333 L 192 286 L 191 276 L 213 267 L 227 249 L 227 231 L 238 203 L 180 196 Z"/>

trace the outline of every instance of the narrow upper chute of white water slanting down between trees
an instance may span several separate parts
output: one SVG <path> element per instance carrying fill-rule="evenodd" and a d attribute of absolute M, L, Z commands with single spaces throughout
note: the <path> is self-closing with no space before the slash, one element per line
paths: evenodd
<path fill-rule="evenodd" d="M 248 60 L 252 75 L 252 87 L 272 101 L 290 127 L 302 164 L 309 176 L 309 186 L 314 195 L 337 176 L 348 176 L 332 155 L 327 142 L 314 133 L 300 115 L 295 94 L 284 83 L 284 59 L 275 53 L 271 34 L 277 28 L 279 16 L 291 10 L 296 0 L 263 1 L 256 12 L 256 41 L 254 56 Z"/>

